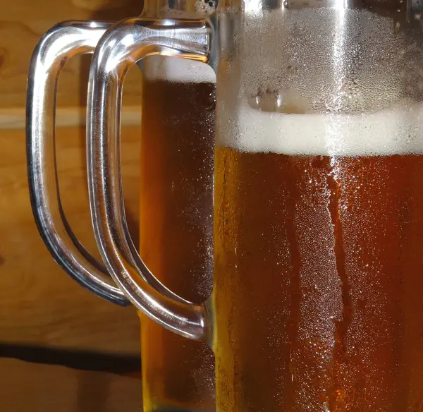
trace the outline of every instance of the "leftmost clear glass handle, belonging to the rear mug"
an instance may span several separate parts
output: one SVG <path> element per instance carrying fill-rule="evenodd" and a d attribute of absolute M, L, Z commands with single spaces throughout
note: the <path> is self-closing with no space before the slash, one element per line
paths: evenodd
<path fill-rule="evenodd" d="M 110 23 L 67 21 L 39 41 L 27 83 L 27 174 L 35 222 L 54 260 L 82 286 L 118 305 L 130 302 L 73 234 L 61 207 L 55 154 L 56 89 L 71 57 L 92 53 Z"/>

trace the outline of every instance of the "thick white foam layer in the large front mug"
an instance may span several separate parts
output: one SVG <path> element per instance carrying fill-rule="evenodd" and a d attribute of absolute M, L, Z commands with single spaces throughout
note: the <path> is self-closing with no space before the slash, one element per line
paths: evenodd
<path fill-rule="evenodd" d="M 423 104 L 357 115 L 283 114 L 245 106 L 238 117 L 221 124 L 219 145 L 243 152 L 329 156 L 423 153 Z"/>

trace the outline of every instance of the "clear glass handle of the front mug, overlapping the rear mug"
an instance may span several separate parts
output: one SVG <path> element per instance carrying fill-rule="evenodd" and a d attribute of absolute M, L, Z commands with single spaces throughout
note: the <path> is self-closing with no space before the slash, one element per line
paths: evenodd
<path fill-rule="evenodd" d="M 87 101 L 88 189 L 94 236 L 106 269 L 152 320 L 184 337 L 209 342 L 207 305 L 159 291 L 154 287 L 157 279 L 133 246 L 125 219 L 120 140 L 123 80 L 129 69 L 152 55 L 207 63 L 212 32 L 208 20 L 130 18 L 116 23 L 95 49 Z"/>

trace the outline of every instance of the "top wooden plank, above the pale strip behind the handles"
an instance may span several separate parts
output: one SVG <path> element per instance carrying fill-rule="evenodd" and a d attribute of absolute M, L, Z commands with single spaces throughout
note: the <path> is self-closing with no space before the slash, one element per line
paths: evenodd
<path fill-rule="evenodd" d="M 142 0 L 0 0 L 0 109 L 25 107 L 27 72 L 41 36 L 62 20 L 107 20 L 137 16 Z M 86 101 L 90 56 L 75 57 L 59 80 L 59 107 Z M 135 68 L 125 83 L 125 102 L 140 104 L 140 75 Z"/>

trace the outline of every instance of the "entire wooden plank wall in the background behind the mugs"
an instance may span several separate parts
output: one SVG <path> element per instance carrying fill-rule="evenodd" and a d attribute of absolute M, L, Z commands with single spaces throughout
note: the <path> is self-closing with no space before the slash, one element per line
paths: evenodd
<path fill-rule="evenodd" d="M 142 0 L 0 0 L 0 410 L 142 411 L 140 327 L 134 308 L 85 291 L 56 265 L 35 226 L 27 188 L 25 100 L 32 51 L 62 20 L 137 16 Z M 58 86 L 56 149 L 63 208 L 97 255 L 85 171 L 90 56 L 72 59 Z M 123 184 L 137 241 L 140 73 L 123 95 Z M 114 372 L 114 373 L 111 373 Z M 119 375 L 120 374 L 120 375 Z"/>

